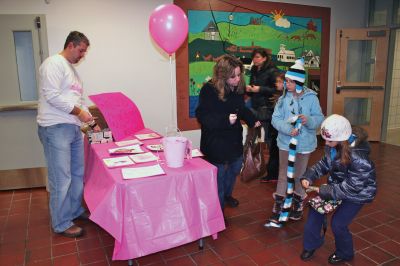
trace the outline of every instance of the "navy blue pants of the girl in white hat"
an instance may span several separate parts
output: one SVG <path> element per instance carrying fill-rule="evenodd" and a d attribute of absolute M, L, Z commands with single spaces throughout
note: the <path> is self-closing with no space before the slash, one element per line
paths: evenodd
<path fill-rule="evenodd" d="M 331 226 L 335 237 L 335 254 L 341 259 L 350 260 L 354 256 L 353 237 L 349 231 L 349 225 L 362 206 L 363 204 L 342 201 L 332 216 Z M 322 246 L 324 243 L 324 235 L 321 233 L 323 223 L 324 215 L 310 208 L 304 226 L 303 246 L 305 250 L 314 250 Z"/>

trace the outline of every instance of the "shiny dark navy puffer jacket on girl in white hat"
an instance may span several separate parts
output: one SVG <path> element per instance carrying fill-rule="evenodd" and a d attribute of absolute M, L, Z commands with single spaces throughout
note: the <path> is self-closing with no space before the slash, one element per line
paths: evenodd
<path fill-rule="evenodd" d="M 356 140 L 356 146 L 351 148 L 351 163 L 348 166 L 341 164 L 338 156 L 332 160 L 330 149 L 325 147 L 324 157 L 307 169 L 301 179 L 307 179 L 312 184 L 319 177 L 329 174 L 328 184 L 322 185 L 319 190 L 322 199 L 371 202 L 376 194 L 376 173 L 375 165 L 369 159 L 369 143 Z"/>

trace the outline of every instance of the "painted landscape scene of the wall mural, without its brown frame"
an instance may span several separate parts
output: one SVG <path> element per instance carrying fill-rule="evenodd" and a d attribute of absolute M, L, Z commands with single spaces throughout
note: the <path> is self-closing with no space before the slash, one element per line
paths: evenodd
<path fill-rule="evenodd" d="M 286 70 L 304 57 L 305 67 L 319 69 L 321 19 L 270 14 L 189 10 L 189 117 L 195 117 L 200 89 L 223 54 L 242 58 L 250 69 L 253 49 L 268 49 L 278 68 Z M 246 71 L 247 72 L 247 71 Z M 247 76 L 249 73 L 246 73 Z M 319 91 L 314 84 L 313 89 Z"/>

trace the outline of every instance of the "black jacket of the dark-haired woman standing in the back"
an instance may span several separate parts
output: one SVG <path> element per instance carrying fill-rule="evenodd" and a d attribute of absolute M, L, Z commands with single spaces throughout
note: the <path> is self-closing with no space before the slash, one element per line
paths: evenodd
<path fill-rule="evenodd" d="M 273 64 L 264 64 L 260 70 L 253 66 L 250 70 L 250 85 L 260 86 L 259 92 L 248 92 L 251 97 L 251 107 L 257 111 L 262 106 L 267 107 L 269 117 L 274 112 L 275 102 L 271 98 L 276 92 L 276 75 L 278 69 Z"/>

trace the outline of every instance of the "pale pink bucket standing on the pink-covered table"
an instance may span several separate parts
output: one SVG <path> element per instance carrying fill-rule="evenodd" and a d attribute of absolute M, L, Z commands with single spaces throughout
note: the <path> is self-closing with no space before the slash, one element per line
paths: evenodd
<path fill-rule="evenodd" d="M 162 139 L 164 155 L 167 166 L 178 168 L 183 166 L 183 161 L 190 158 L 192 143 L 185 137 L 165 137 Z"/>

